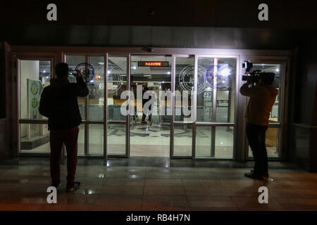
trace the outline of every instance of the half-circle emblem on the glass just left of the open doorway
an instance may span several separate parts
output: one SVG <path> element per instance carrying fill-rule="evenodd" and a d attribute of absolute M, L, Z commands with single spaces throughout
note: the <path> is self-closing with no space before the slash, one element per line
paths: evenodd
<path fill-rule="evenodd" d="M 114 63 L 108 64 L 108 93 L 113 93 L 120 89 L 123 84 L 123 70 Z"/>

